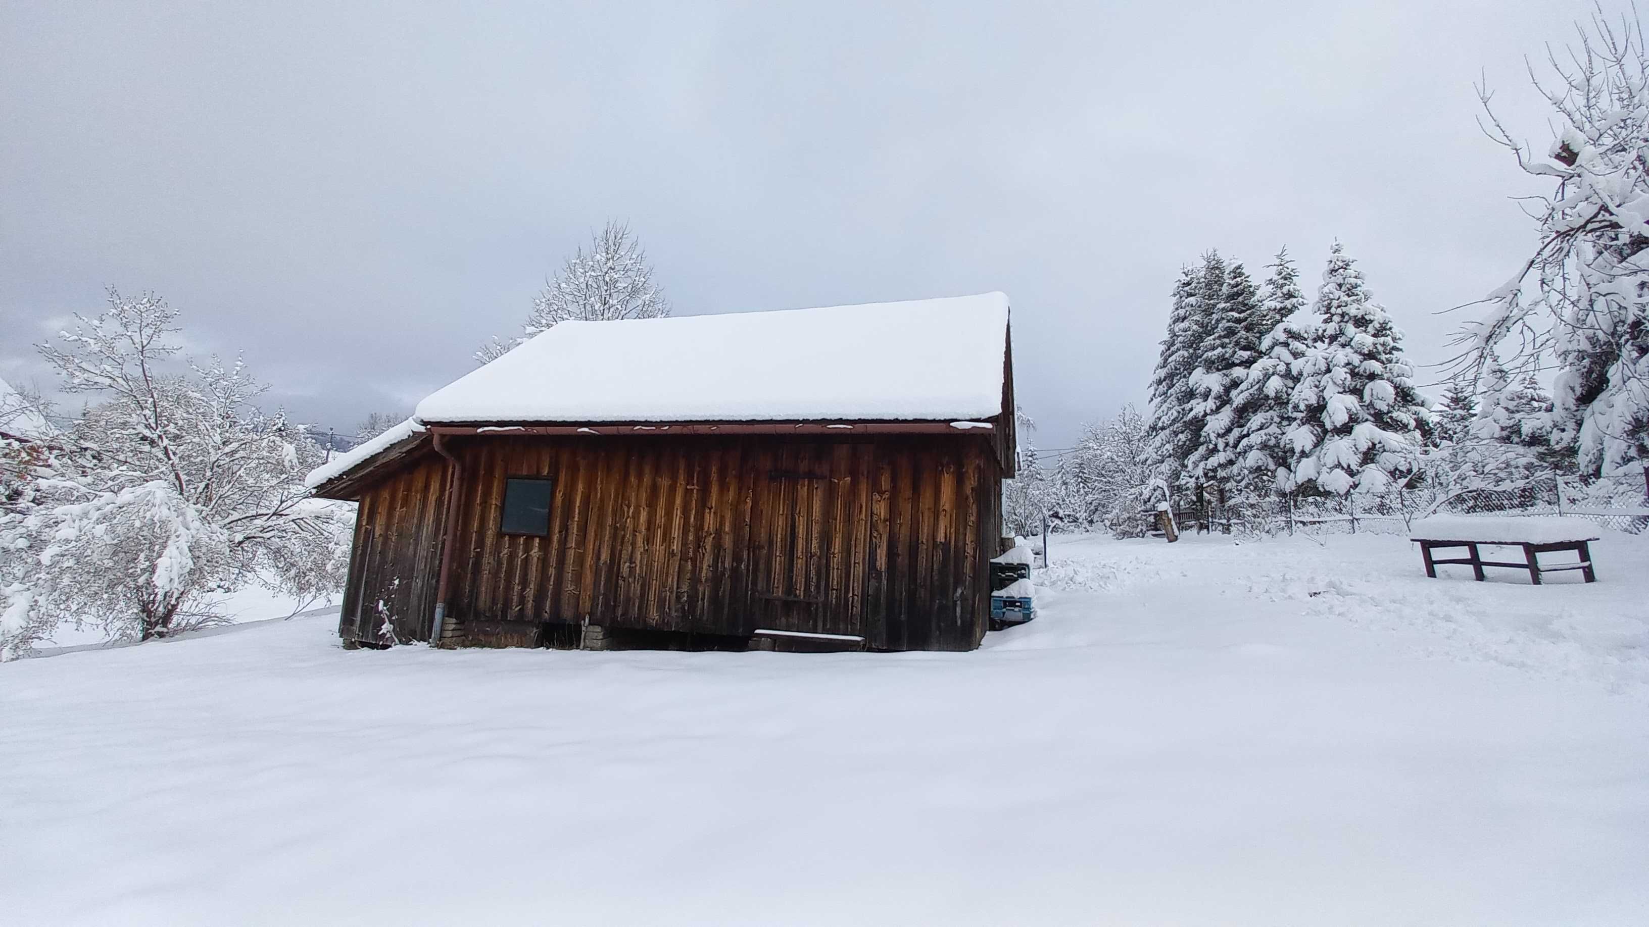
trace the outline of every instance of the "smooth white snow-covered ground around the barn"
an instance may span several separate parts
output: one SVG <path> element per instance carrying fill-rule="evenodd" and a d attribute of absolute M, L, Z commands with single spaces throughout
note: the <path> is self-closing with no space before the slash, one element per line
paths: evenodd
<path fill-rule="evenodd" d="M 1644 924 L 1649 543 L 1060 539 L 976 653 L 0 666 L 8 924 Z"/>

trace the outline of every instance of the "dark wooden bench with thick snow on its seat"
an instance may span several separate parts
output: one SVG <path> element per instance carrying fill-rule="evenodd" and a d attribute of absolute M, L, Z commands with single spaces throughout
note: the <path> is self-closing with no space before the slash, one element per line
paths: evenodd
<path fill-rule="evenodd" d="M 1596 582 L 1598 574 L 1591 567 L 1591 541 L 1598 539 L 1596 526 L 1576 518 L 1426 518 L 1416 521 L 1410 529 L 1410 541 L 1420 544 L 1420 558 L 1426 564 L 1426 576 L 1436 579 L 1438 564 L 1469 566 L 1473 576 L 1481 582 L 1482 567 L 1496 566 L 1507 569 L 1527 569 L 1529 581 L 1540 586 L 1540 576 L 1547 572 L 1567 572 L 1578 569 L 1586 582 Z M 1522 548 L 1524 562 L 1486 561 L 1484 546 Z M 1464 558 L 1436 558 L 1436 549 L 1464 548 Z M 1578 562 L 1542 566 L 1540 554 L 1558 551 L 1575 551 Z"/>

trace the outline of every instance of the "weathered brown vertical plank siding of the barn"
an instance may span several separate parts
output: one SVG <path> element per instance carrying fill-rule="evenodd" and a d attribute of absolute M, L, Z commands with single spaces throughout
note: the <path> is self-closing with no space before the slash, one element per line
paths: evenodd
<path fill-rule="evenodd" d="M 523 628 L 585 620 L 707 635 L 851 633 L 886 650 L 968 650 L 984 635 L 986 562 L 1001 525 L 1001 467 L 988 435 L 449 444 L 463 464 L 445 635 L 455 643 L 528 643 Z M 409 572 L 419 591 L 402 579 L 389 589 L 391 610 L 434 609 L 429 541 L 440 543 L 445 467 L 425 465 L 363 496 L 346 615 L 351 604 L 369 614 L 364 591 L 383 597 L 391 576 Z M 549 536 L 500 533 L 506 477 L 556 480 Z M 401 515 L 386 523 L 386 513 Z M 427 638 L 429 619 L 420 622 Z M 371 628 L 355 627 L 371 640 Z"/>

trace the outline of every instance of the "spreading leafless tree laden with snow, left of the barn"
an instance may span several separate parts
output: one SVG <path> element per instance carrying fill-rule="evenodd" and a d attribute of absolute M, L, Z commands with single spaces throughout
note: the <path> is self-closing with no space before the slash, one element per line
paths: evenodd
<path fill-rule="evenodd" d="M 41 345 L 64 391 L 102 401 L 0 510 L 8 627 L 148 640 L 216 620 L 213 594 L 247 581 L 340 584 L 348 513 L 302 483 L 320 449 L 259 411 L 265 388 L 239 360 L 180 365 L 176 315 L 109 290 L 102 315 Z"/>

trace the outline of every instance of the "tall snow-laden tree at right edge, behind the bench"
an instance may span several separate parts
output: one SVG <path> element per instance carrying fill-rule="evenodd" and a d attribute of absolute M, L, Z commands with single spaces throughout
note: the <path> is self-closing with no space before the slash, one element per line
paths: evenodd
<path fill-rule="evenodd" d="M 1649 459 L 1649 54 L 1636 13 L 1593 15 L 1548 66 L 1534 79 L 1557 122 L 1547 160 L 1479 92 L 1489 134 L 1555 188 L 1532 200 L 1540 241 L 1464 332 L 1468 358 L 1484 371 L 1499 350 L 1522 373 L 1555 360 L 1553 445 L 1583 475 L 1613 473 Z"/>

